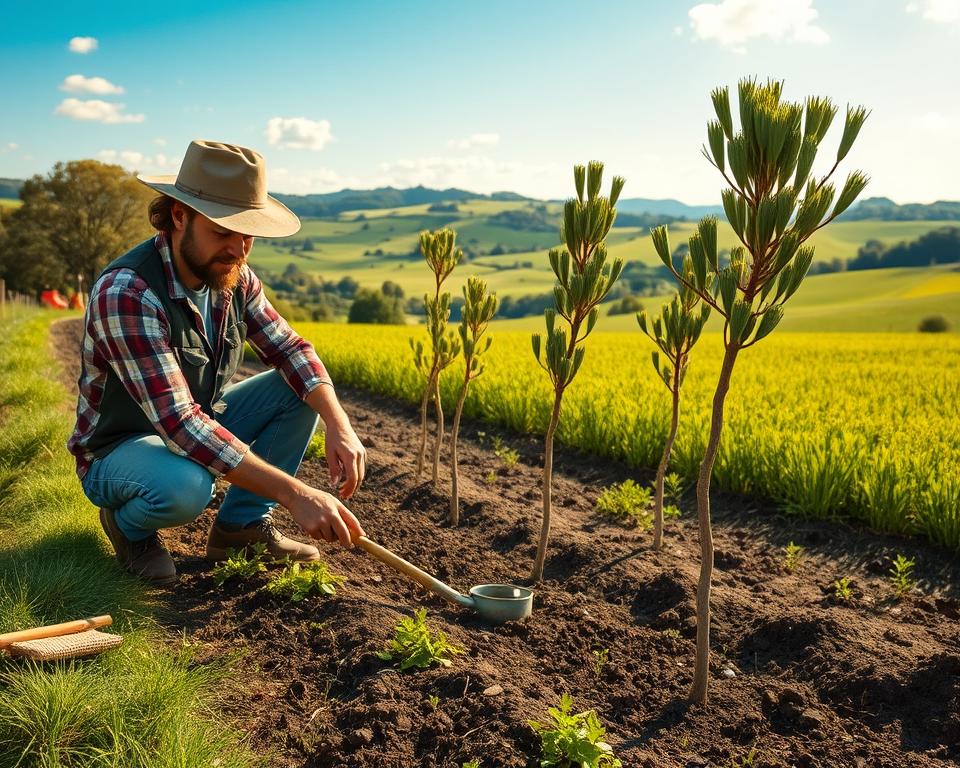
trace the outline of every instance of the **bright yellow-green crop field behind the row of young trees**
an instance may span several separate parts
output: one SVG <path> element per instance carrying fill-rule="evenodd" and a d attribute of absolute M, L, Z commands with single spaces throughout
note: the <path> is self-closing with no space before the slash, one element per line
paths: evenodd
<path fill-rule="evenodd" d="M 419 402 L 409 339 L 422 327 L 300 324 L 334 382 Z M 639 331 L 594 332 L 563 401 L 558 438 L 632 466 L 655 468 L 670 396 Z M 671 463 L 692 481 L 706 441 L 722 342 L 694 349 Z M 543 433 L 552 404 L 530 334 L 494 334 L 466 412 Z M 462 366 L 445 374 L 452 410 Z M 849 517 L 881 531 L 960 548 L 960 338 L 922 334 L 784 333 L 744 350 L 727 398 L 715 487 L 819 518 Z M 411 450 L 415 450 L 411 434 Z"/>

